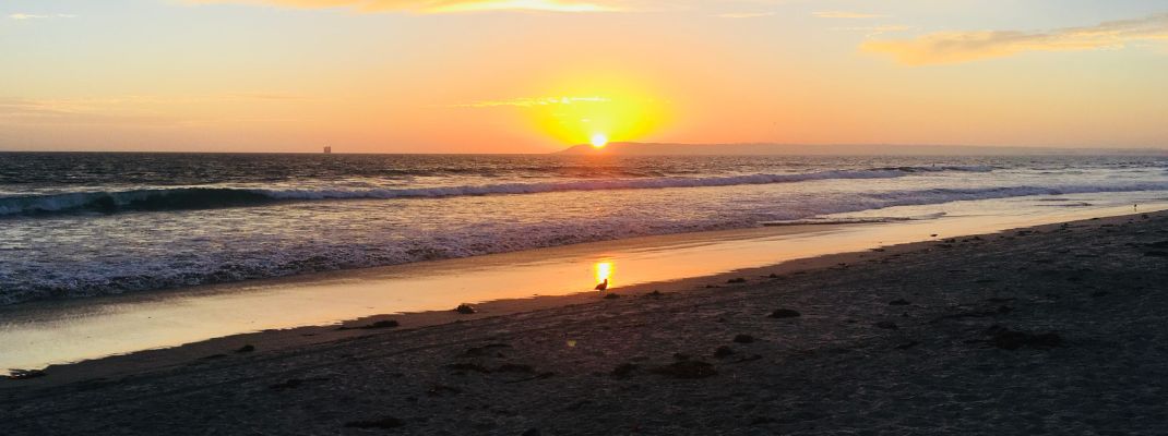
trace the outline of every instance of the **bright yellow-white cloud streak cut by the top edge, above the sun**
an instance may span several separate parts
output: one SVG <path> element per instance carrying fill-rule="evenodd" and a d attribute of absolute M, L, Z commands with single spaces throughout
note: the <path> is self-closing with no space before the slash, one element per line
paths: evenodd
<path fill-rule="evenodd" d="M 616 1 L 589 0 L 188 0 L 190 3 L 249 3 L 297 8 L 350 8 L 359 12 L 411 12 L 424 14 L 538 10 L 538 12 L 616 12 L 624 8 Z"/>

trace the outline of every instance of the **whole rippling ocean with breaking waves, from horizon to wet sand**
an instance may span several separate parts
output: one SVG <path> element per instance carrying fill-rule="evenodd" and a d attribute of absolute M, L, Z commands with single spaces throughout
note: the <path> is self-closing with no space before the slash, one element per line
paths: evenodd
<path fill-rule="evenodd" d="M 1166 201 L 1168 157 L 0 153 L 0 305 L 1015 197 Z"/>

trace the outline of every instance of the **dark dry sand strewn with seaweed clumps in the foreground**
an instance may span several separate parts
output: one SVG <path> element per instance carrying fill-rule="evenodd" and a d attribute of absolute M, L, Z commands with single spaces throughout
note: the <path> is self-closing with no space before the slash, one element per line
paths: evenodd
<path fill-rule="evenodd" d="M 1164 213 L 660 289 L 50 367 L 0 435 L 1168 434 Z"/>

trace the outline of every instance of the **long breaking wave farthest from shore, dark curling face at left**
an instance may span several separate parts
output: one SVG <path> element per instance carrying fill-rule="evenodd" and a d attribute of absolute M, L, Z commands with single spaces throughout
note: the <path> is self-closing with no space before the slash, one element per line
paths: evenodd
<path fill-rule="evenodd" d="M 564 182 L 498 183 L 481 185 L 392 189 L 245 189 L 165 188 L 125 191 L 71 192 L 0 198 L 0 217 L 54 213 L 173 211 L 256 206 L 276 202 L 324 199 L 438 198 L 523 195 L 558 191 L 665 189 L 797 183 L 822 180 L 894 178 L 923 171 L 989 171 L 992 167 L 898 167 L 870 170 L 832 170 L 806 174 L 753 174 L 717 177 L 644 177 Z"/>

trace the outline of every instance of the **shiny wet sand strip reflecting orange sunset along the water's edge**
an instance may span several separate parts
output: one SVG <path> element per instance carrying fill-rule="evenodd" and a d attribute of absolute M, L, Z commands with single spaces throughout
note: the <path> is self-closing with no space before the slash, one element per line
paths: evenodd
<path fill-rule="evenodd" d="M 1146 205 L 1148 210 L 1168 204 Z M 632 238 L 467 259 L 245 281 L 96 298 L 46 301 L 0 308 L 0 375 L 7 368 L 43 368 L 132 353 L 103 370 L 158 366 L 175 353 L 142 350 L 199 344 L 241 333 L 332 325 L 383 314 L 410 315 L 408 325 L 451 322 L 459 303 L 489 303 L 487 316 L 564 304 L 545 296 L 576 295 L 605 280 L 613 289 L 758 268 L 795 259 L 996 232 L 1075 219 L 1131 213 L 1128 208 L 1049 208 L 959 202 L 943 217 L 892 223 L 795 225 Z M 880 213 L 917 216 L 892 208 Z M 871 220 L 871 219 L 868 219 Z M 682 283 L 677 289 L 684 289 Z M 538 296 L 538 297 L 537 297 Z M 536 298 L 535 301 L 530 301 Z M 568 298 L 568 301 L 572 301 Z M 326 329 L 327 330 L 327 329 Z M 304 335 L 313 335 L 305 337 Z M 267 333 L 266 350 L 332 340 L 335 333 Z M 252 339 L 248 339 L 252 340 Z M 239 342 L 239 340 L 235 340 Z M 215 350 L 217 344 L 187 349 Z M 181 353 L 178 356 L 183 357 Z M 54 370 L 57 372 L 56 370 Z M 63 375 L 55 379 L 64 379 Z M 103 373 L 104 375 L 104 373 Z M 117 375 L 117 374 L 112 374 Z"/>

